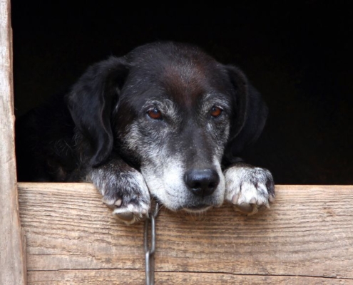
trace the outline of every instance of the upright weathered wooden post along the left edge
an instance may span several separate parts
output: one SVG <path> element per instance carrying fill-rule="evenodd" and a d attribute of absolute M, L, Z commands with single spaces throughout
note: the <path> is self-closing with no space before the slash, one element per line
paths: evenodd
<path fill-rule="evenodd" d="M 14 150 L 10 0 L 0 0 L 0 284 L 26 284 Z"/>

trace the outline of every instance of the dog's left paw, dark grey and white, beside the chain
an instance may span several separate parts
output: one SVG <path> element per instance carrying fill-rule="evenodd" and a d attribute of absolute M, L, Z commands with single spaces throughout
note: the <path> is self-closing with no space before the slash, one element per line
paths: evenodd
<path fill-rule="evenodd" d="M 133 224 L 148 217 L 150 194 L 137 170 L 126 172 L 93 171 L 91 180 L 103 195 L 103 203 L 118 219 Z"/>

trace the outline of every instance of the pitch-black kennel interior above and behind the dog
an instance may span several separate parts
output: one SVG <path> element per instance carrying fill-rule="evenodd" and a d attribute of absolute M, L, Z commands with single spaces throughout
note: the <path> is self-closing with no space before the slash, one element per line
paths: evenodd
<path fill-rule="evenodd" d="M 195 43 L 242 68 L 270 108 L 247 161 L 277 184 L 353 184 L 348 1 L 130 3 L 12 1 L 16 116 L 110 55 L 156 40 Z"/>

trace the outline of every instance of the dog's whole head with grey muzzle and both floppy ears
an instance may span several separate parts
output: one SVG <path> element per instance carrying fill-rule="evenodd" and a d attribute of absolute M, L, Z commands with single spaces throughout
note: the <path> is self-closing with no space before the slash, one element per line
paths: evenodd
<path fill-rule="evenodd" d="M 267 116 L 242 71 L 170 42 L 96 63 L 67 99 L 93 167 L 117 153 L 165 207 L 190 212 L 222 204 L 222 161 L 255 140 Z"/>

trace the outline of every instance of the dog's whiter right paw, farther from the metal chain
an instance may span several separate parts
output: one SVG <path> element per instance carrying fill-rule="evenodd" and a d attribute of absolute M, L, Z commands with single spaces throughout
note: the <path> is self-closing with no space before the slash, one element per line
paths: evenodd
<path fill-rule="evenodd" d="M 235 165 L 224 172 L 225 199 L 240 212 L 255 214 L 275 200 L 275 184 L 270 171 L 251 165 Z"/>

